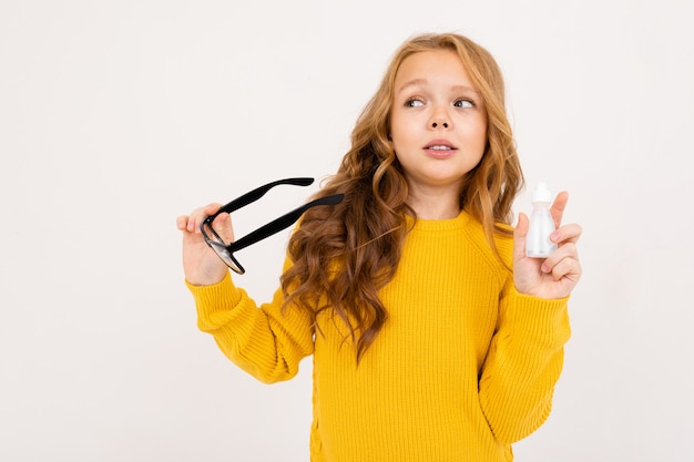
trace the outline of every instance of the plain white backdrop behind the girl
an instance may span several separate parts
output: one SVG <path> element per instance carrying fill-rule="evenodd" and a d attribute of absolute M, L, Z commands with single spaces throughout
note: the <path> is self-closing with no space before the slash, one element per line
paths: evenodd
<path fill-rule="evenodd" d="M 197 330 L 177 215 L 331 174 L 395 49 L 498 59 L 584 276 L 518 461 L 694 460 L 692 1 L 0 1 L 0 460 L 307 461 L 312 363 L 262 384 Z M 237 233 L 316 191 L 285 187 Z M 277 285 L 287 235 L 239 253 Z"/>

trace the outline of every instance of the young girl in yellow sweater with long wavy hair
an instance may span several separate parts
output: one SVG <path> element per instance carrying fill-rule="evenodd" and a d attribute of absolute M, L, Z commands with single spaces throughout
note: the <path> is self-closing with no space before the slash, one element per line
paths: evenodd
<path fill-rule="evenodd" d="M 581 275 L 579 225 L 547 259 L 510 227 L 523 177 L 493 58 L 458 34 L 396 52 L 256 306 L 206 245 L 211 204 L 181 216 L 200 328 L 264 382 L 314 356 L 314 462 L 510 461 L 548 418 Z M 228 214 L 214 229 L 233 240 Z M 271 437 L 272 438 L 272 437 Z"/>

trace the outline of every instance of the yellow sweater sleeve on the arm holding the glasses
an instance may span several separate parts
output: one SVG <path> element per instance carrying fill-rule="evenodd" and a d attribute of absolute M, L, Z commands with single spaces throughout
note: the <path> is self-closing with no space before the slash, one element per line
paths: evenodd
<path fill-rule="evenodd" d="M 256 379 L 265 383 L 288 380 L 298 372 L 300 360 L 313 353 L 313 320 L 296 308 L 283 312 L 280 289 L 271 302 L 258 307 L 228 274 L 216 285 L 186 285 L 195 300 L 198 328 Z"/>

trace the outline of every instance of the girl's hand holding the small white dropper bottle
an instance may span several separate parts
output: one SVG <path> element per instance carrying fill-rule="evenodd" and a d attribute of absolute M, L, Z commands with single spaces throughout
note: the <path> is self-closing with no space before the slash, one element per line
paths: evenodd
<path fill-rule="evenodd" d="M 525 237 L 529 219 L 519 214 L 513 232 L 513 281 L 521 294 L 540 298 L 563 298 L 571 294 L 581 278 L 581 263 L 576 243 L 581 237 L 581 226 L 576 224 L 561 226 L 561 219 L 569 199 L 569 194 L 557 195 L 550 212 L 557 230 L 551 240 L 558 245 L 548 258 L 532 258 L 525 255 Z"/>

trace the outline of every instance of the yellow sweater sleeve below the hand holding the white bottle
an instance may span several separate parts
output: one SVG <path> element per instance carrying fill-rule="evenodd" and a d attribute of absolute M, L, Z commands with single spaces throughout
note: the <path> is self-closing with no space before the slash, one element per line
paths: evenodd
<path fill-rule="evenodd" d="M 507 287 L 479 381 L 480 405 L 498 441 L 514 443 L 547 420 L 570 336 L 568 298 L 544 300 Z"/>

